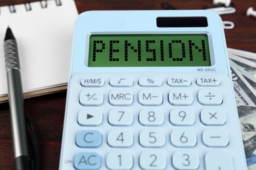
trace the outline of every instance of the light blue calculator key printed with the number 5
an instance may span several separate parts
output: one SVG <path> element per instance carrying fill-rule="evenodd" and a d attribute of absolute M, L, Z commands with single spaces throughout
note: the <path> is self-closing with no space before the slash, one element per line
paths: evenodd
<path fill-rule="evenodd" d="M 144 130 L 140 132 L 139 142 L 144 147 L 161 147 L 165 144 L 163 131 Z"/>

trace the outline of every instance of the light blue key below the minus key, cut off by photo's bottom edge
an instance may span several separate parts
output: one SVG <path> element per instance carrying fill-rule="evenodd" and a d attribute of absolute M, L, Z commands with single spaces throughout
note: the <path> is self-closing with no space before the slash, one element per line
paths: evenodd
<path fill-rule="evenodd" d="M 226 152 L 208 152 L 205 155 L 205 170 L 234 169 L 232 159 Z"/>

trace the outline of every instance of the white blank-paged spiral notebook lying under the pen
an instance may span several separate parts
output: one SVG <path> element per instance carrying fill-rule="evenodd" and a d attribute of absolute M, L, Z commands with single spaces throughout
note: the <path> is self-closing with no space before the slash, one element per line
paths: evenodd
<path fill-rule="evenodd" d="M 66 89 L 78 12 L 74 0 L 0 7 L 0 103 L 8 100 L 3 39 L 9 25 L 20 56 L 24 98 Z"/>

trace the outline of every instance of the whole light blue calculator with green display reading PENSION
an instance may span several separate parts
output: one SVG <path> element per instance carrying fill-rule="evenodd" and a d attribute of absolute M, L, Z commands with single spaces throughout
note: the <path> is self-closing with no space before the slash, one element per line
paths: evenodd
<path fill-rule="evenodd" d="M 59 169 L 247 169 L 221 18 L 81 13 Z"/>

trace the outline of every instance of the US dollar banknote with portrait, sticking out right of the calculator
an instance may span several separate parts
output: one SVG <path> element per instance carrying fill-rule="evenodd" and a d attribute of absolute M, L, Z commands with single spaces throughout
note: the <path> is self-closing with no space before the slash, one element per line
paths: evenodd
<path fill-rule="evenodd" d="M 256 169 L 256 79 L 245 71 L 244 67 L 240 67 L 231 59 L 230 69 L 247 167 L 248 169 Z"/>

